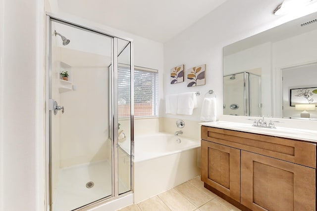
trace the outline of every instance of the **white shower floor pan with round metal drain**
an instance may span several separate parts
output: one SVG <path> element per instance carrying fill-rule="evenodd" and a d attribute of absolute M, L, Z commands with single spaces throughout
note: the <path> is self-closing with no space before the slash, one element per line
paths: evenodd
<path fill-rule="evenodd" d="M 53 211 L 71 211 L 110 196 L 111 172 L 111 165 L 106 161 L 60 169 L 53 194 Z M 121 188 L 125 189 L 119 179 L 119 190 Z"/>

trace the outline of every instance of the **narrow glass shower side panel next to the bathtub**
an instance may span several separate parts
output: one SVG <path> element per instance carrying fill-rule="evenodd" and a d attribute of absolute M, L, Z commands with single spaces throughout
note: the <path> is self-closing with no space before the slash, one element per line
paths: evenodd
<path fill-rule="evenodd" d="M 118 71 L 117 71 L 117 119 L 118 119 L 118 195 L 131 190 L 131 155 L 133 133 L 131 133 L 131 43 L 118 39 Z M 133 118 L 133 117 L 132 117 Z"/>

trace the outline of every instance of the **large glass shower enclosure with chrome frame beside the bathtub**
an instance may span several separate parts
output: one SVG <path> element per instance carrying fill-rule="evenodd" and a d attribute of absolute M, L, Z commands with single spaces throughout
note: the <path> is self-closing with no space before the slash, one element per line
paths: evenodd
<path fill-rule="evenodd" d="M 129 194 L 131 41 L 47 16 L 47 42 L 50 210 L 78 210 Z"/>

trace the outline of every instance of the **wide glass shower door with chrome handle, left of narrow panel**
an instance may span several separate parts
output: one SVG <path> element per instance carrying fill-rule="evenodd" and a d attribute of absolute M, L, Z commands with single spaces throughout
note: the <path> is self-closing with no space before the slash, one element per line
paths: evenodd
<path fill-rule="evenodd" d="M 51 22 L 53 211 L 78 209 L 113 195 L 112 42 L 113 38 L 99 33 Z"/>

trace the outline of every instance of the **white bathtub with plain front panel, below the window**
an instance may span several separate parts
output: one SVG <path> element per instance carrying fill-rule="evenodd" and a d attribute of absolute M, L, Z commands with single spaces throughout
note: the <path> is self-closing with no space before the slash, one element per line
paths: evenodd
<path fill-rule="evenodd" d="M 181 140 L 177 142 L 177 138 Z M 134 203 L 200 175 L 200 140 L 154 133 L 134 138 Z"/>

